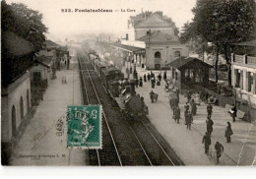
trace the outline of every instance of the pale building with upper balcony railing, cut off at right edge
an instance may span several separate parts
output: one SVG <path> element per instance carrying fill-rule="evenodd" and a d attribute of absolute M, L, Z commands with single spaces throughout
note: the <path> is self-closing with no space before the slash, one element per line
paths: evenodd
<path fill-rule="evenodd" d="M 231 54 L 231 85 L 235 91 L 235 103 L 247 114 L 249 121 L 255 121 L 253 116 L 256 115 L 256 40 L 234 45 L 247 49 L 243 55 Z"/>

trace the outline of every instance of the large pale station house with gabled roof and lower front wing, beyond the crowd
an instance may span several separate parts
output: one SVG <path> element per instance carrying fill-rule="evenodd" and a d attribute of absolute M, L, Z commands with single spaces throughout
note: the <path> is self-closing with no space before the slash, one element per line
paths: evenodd
<path fill-rule="evenodd" d="M 175 24 L 162 12 L 146 12 L 128 20 L 126 38 L 122 45 L 137 47 L 136 51 L 113 47 L 123 52 L 124 58 L 151 69 L 165 69 L 166 64 L 180 56 L 188 56 L 188 48 L 179 42 Z"/>

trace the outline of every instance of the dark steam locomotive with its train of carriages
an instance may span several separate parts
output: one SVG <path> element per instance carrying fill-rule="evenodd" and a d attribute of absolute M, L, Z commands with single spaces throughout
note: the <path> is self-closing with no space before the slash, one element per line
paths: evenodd
<path fill-rule="evenodd" d="M 144 98 L 136 94 L 135 82 L 124 79 L 124 74 L 114 66 L 109 57 L 100 59 L 98 55 L 91 53 L 89 59 L 104 88 L 116 101 L 122 112 L 128 117 L 142 116 L 149 113 Z"/>

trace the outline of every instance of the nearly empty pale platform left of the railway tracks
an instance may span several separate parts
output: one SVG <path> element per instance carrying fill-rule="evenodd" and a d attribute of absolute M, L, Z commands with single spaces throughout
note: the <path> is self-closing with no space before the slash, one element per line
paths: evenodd
<path fill-rule="evenodd" d="M 63 77 L 66 83 L 62 82 Z M 89 164 L 85 149 L 66 149 L 66 131 L 57 135 L 55 128 L 59 119 L 65 125 L 67 105 L 83 104 L 80 83 L 77 57 L 72 56 L 70 70 L 63 66 L 57 71 L 57 79 L 49 82 L 43 101 L 14 150 L 12 165 Z"/>

